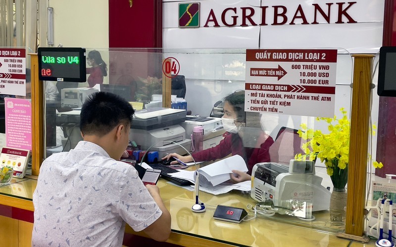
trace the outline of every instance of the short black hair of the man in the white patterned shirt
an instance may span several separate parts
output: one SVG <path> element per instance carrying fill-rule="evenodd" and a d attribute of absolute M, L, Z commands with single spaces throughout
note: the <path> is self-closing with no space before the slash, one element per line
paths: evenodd
<path fill-rule="evenodd" d="M 103 136 L 118 124 L 130 125 L 135 113 L 124 98 L 110 92 L 96 92 L 85 100 L 80 113 L 83 134 Z"/>

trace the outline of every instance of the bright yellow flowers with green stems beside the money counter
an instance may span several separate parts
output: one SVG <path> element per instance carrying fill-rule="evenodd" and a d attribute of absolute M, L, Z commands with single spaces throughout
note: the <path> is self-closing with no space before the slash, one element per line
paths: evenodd
<path fill-rule="evenodd" d="M 348 159 L 349 159 L 349 128 L 350 122 L 347 118 L 347 111 L 341 108 L 343 114 L 341 119 L 316 118 L 317 121 L 325 121 L 329 124 L 330 133 L 324 134 L 321 130 L 308 129 L 306 124 L 301 124 L 298 130 L 299 136 L 307 140 L 302 144 L 305 154 L 297 154 L 296 160 L 309 159 L 313 161 L 319 158 L 326 165 L 327 174 L 331 177 L 334 188 L 344 189 L 348 180 Z M 375 134 L 376 126 L 372 126 Z M 374 167 L 381 168 L 382 163 L 373 162 Z"/>

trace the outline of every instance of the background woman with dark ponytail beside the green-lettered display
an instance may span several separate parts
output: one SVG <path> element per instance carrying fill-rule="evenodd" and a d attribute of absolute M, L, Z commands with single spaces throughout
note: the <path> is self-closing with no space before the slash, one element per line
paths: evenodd
<path fill-rule="evenodd" d="M 89 87 L 96 84 L 103 84 L 103 77 L 107 76 L 107 65 L 103 61 L 99 51 L 92 50 L 88 52 L 87 63 L 91 68 L 87 68 L 87 74 L 90 74 L 87 82 Z"/>

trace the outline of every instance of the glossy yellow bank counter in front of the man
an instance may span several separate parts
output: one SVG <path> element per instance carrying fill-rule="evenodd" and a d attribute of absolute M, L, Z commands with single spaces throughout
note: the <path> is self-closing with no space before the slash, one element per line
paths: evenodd
<path fill-rule="evenodd" d="M 8 185 L 0 186 L 0 240 L 2 247 L 30 246 L 33 230 L 33 192 L 37 185 L 35 177 L 12 178 Z M 321 247 L 364 247 L 375 246 L 375 241 L 361 244 L 338 238 L 336 233 L 343 227 L 332 226 L 329 212 L 314 212 L 315 221 L 307 222 L 289 215 L 274 215 L 270 219 L 258 216 L 249 221 L 232 223 L 213 219 L 217 205 L 245 208 L 247 218 L 254 213 L 247 209 L 256 202 L 249 194 L 231 191 L 222 195 L 200 192 L 200 200 L 207 210 L 195 213 L 194 192 L 170 184 L 167 180 L 158 181 L 161 197 L 172 215 L 172 234 L 168 243 L 180 246 L 321 246 Z M 124 245 L 128 235 L 146 235 L 134 232 L 128 225 L 125 229 Z M 4 244 L 5 243 L 5 244 Z M 136 244 L 136 243 L 135 243 Z"/>

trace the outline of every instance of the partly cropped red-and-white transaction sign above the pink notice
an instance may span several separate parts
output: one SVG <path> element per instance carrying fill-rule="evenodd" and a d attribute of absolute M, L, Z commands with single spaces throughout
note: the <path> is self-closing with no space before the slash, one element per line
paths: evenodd
<path fill-rule="evenodd" d="M 0 94 L 26 96 L 26 50 L 0 48 Z"/>

